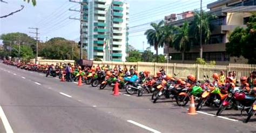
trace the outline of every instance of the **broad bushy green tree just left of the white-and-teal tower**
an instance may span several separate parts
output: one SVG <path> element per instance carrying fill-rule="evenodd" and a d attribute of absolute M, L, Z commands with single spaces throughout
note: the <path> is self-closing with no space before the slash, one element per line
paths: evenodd
<path fill-rule="evenodd" d="M 71 60 L 73 57 L 73 60 L 79 60 L 78 45 L 64 38 L 52 38 L 46 43 L 39 43 L 38 48 L 39 56 L 48 59 Z M 86 56 L 84 55 L 83 58 Z"/>

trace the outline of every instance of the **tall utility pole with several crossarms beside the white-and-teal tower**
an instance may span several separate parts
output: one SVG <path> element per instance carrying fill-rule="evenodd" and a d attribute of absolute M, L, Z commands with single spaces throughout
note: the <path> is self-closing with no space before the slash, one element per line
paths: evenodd
<path fill-rule="evenodd" d="M 76 1 L 71 1 L 70 2 L 74 2 L 74 3 L 79 3 L 80 4 L 80 10 L 75 10 L 75 9 L 69 9 L 70 11 L 76 11 L 76 12 L 80 12 L 80 19 L 78 18 L 71 18 L 69 17 L 69 19 L 75 19 L 75 20 L 79 20 L 80 21 L 80 60 L 83 60 L 83 21 L 87 21 L 83 19 L 83 6 L 85 4 L 87 4 L 86 2 L 76 2 Z"/>

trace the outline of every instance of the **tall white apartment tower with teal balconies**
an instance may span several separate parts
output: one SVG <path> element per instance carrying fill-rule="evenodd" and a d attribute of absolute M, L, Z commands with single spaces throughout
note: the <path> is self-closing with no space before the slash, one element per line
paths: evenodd
<path fill-rule="evenodd" d="M 87 58 L 125 61 L 129 4 L 118 0 L 83 0 L 83 43 Z"/>

